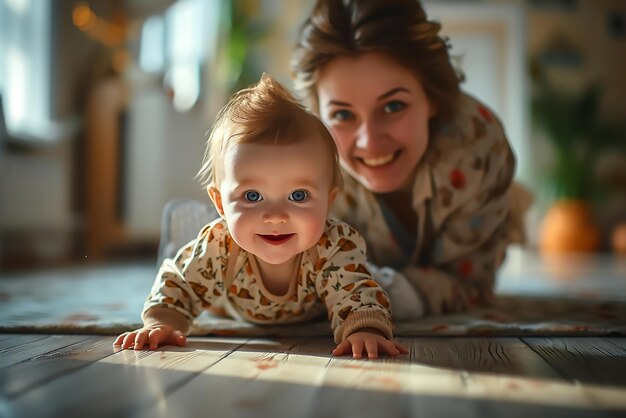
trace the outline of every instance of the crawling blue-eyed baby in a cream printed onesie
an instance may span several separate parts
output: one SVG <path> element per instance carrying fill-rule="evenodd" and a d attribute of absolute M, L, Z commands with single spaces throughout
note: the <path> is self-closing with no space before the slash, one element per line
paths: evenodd
<path fill-rule="evenodd" d="M 209 309 L 257 324 L 327 312 L 334 355 L 407 352 L 392 339 L 389 298 L 365 268 L 363 239 L 327 219 L 341 182 L 332 136 L 284 87 L 264 75 L 233 96 L 198 175 L 220 218 L 163 262 L 144 326 L 115 345 L 184 345 Z"/>

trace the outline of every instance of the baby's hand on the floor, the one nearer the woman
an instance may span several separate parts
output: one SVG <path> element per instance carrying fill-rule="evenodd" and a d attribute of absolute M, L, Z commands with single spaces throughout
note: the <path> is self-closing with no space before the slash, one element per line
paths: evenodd
<path fill-rule="evenodd" d="M 364 349 L 367 357 L 371 359 L 378 358 L 378 351 L 383 351 L 390 356 L 409 352 L 400 343 L 385 338 L 380 331 L 368 328 L 350 334 L 333 350 L 333 356 L 342 356 L 352 352 L 352 357 L 361 358 Z"/>

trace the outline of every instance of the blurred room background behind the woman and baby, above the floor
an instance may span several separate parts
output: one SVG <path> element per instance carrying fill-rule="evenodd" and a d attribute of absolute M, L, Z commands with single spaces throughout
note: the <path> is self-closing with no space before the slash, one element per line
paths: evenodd
<path fill-rule="evenodd" d="M 312 3 L 0 0 L 0 272 L 156 262 L 228 96 L 292 87 Z M 424 4 L 535 194 L 529 248 L 626 251 L 626 1 Z"/>

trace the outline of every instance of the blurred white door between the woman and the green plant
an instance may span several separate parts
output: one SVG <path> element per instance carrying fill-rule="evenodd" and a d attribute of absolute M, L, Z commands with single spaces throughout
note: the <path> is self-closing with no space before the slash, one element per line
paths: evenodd
<path fill-rule="evenodd" d="M 523 6 L 431 0 L 424 7 L 450 38 L 450 54 L 466 77 L 462 89 L 496 112 L 517 157 L 518 179 L 532 183 Z"/>

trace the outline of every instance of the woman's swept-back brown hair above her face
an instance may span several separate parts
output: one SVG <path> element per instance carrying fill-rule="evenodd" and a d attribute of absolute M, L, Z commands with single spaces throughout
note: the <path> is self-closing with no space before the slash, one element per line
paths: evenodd
<path fill-rule="evenodd" d="M 295 87 L 317 113 L 317 77 L 324 64 L 378 52 L 415 73 L 437 109 L 431 123 L 445 122 L 456 113 L 462 75 L 450 62 L 440 30 L 418 0 L 318 0 L 292 55 Z"/>

